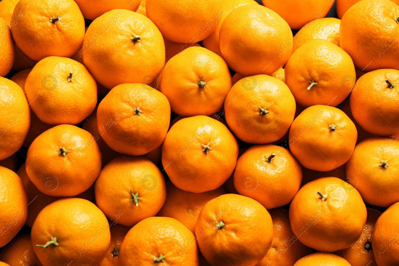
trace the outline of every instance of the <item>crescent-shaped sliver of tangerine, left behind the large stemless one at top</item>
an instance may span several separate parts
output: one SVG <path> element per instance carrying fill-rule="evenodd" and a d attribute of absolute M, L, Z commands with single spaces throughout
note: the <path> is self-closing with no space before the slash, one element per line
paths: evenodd
<path fill-rule="evenodd" d="M 219 32 L 223 20 L 227 17 L 228 14 L 230 14 L 231 11 L 235 10 L 239 6 L 258 4 L 258 3 L 254 0 L 225 0 L 224 4 L 225 4 L 225 9 L 223 11 L 223 15 L 216 24 L 215 31 L 212 32 L 208 37 L 203 39 L 201 42 L 203 47 L 205 47 L 209 51 L 212 51 L 213 53 L 216 53 L 219 56 L 222 56 L 219 45 Z"/>

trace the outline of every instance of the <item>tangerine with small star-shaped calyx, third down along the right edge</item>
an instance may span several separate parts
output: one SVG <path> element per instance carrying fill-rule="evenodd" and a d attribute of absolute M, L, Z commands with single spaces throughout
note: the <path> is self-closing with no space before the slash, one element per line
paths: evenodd
<path fill-rule="evenodd" d="M 389 207 L 399 201 L 398 154 L 395 138 L 367 138 L 356 145 L 346 164 L 346 176 L 365 202 Z"/>

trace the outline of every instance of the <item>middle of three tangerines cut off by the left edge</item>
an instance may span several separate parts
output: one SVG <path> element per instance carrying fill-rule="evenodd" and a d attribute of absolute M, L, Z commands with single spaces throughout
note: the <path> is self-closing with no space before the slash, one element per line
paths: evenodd
<path fill-rule="evenodd" d="M 0 77 L 0 160 L 21 148 L 30 126 L 30 110 L 24 91 L 13 81 Z"/>

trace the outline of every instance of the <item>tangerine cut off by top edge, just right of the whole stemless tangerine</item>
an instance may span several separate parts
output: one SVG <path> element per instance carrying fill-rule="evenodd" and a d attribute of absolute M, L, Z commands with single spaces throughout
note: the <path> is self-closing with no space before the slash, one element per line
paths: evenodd
<path fill-rule="evenodd" d="M 284 2 L 262 0 L 262 3 L 284 18 L 290 28 L 298 30 L 312 20 L 324 18 L 334 4 L 334 0 L 288 0 Z"/>

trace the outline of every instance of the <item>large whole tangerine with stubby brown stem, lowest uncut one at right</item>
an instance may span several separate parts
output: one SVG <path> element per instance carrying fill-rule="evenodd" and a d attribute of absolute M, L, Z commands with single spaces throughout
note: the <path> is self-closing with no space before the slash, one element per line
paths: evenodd
<path fill-rule="evenodd" d="M 334 252 L 354 244 L 366 217 L 359 192 L 336 177 L 307 183 L 290 205 L 291 228 L 296 238 L 321 252 Z"/>

